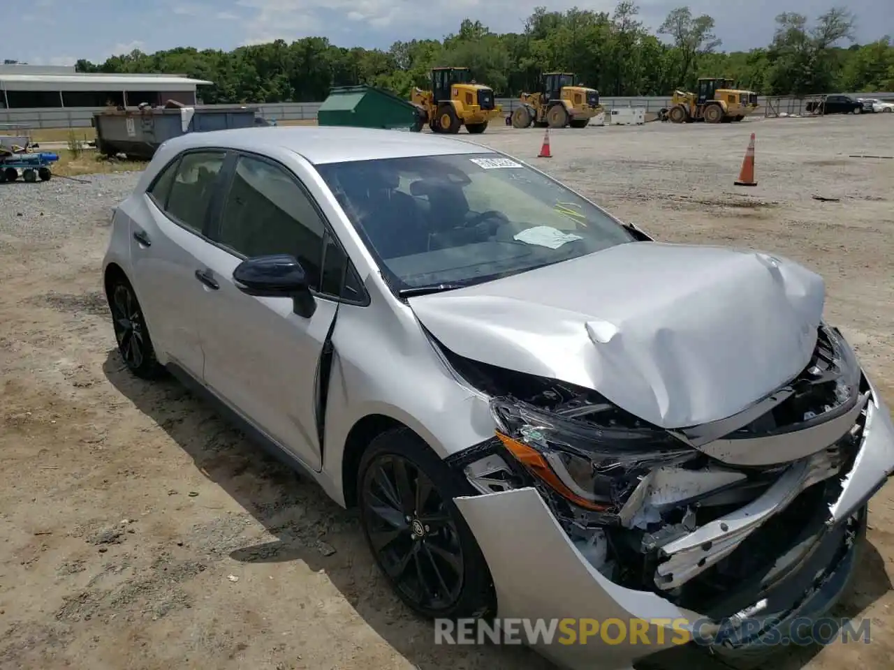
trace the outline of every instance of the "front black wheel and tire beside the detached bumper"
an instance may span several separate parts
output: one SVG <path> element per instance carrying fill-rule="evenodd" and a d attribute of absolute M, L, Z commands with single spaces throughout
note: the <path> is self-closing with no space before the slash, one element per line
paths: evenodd
<path fill-rule="evenodd" d="M 360 460 L 357 500 L 367 546 L 417 615 L 456 619 L 495 611 L 485 557 L 453 502 L 472 492 L 409 428 L 385 431 Z"/>

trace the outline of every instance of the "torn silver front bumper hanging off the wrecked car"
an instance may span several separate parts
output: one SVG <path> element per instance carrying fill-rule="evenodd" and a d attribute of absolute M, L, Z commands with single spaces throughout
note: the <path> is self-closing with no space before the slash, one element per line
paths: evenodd
<path fill-rule="evenodd" d="M 840 420 L 851 424 L 856 420 L 860 425 L 856 454 L 844 458 L 834 445 L 823 448 L 819 444 L 813 454 L 780 465 L 772 485 L 743 507 L 685 534 L 656 540 L 660 562 L 652 573 L 654 584 L 646 580 L 639 586 L 622 584 L 604 569 L 604 553 L 603 558 L 595 557 L 599 552 L 592 551 L 593 543 L 584 545 L 569 536 L 542 487 L 513 486 L 498 476 L 502 456 L 482 457 L 468 465 L 466 473 L 482 494 L 455 498 L 455 502 L 490 567 L 498 616 L 570 617 L 578 622 L 614 619 L 626 625 L 627 634 L 620 640 L 619 629 L 614 628 L 608 638 L 597 633 L 586 643 L 568 638 L 552 643 L 529 641 L 545 657 L 568 668 L 628 668 L 638 659 L 687 640 L 719 653 L 771 651 L 767 640 L 785 639 L 793 620 L 822 616 L 839 599 L 853 574 L 867 502 L 894 472 L 894 425 L 889 410 L 871 381 L 864 376 L 862 380 L 863 391 Z M 639 503 L 647 493 L 660 489 L 655 481 L 651 484 L 651 488 L 637 487 L 643 492 Z M 724 561 L 750 552 L 755 542 L 765 547 L 766 537 L 761 534 L 769 532 L 765 527 L 774 520 L 780 523 L 787 509 L 804 503 L 810 491 L 821 488 L 822 495 L 806 500 L 810 522 L 805 521 L 803 529 L 791 530 L 797 537 L 762 566 L 754 581 L 729 585 L 719 599 L 680 597 L 687 582 L 696 583 Z M 666 489 L 663 492 L 667 494 Z M 652 502 L 672 506 L 685 497 L 685 491 L 678 490 L 676 499 L 660 500 L 653 495 Z M 635 520 L 627 517 L 627 522 Z M 746 621 L 748 625 L 743 626 Z M 755 622 L 759 623 L 756 627 Z M 634 625 L 641 634 L 632 634 Z"/>

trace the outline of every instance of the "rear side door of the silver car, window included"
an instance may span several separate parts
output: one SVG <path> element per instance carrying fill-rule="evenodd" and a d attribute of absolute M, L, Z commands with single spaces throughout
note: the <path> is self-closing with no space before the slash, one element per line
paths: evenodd
<path fill-rule="evenodd" d="M 169 163 L 131 217 L 133 284 L 156 348 L 201 378 L 204 353 L 198 312 L 205 289 L 195 279 L 208 213 L 225 152 L 188 151 Z"/>

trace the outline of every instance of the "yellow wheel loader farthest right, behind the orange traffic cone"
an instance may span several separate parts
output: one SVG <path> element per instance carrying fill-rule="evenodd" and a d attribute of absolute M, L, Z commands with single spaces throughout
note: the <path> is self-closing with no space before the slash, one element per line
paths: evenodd
<path fill-rule="evenodd" d="M 698 80 L 698 92 L 674 91 L 671 106 L 658 113 L 661 121 L 688 123 L 728 123 L 742 121 L 757 109 L 757 94 L 736 88 L 733 80 L 703 78 Z"/>

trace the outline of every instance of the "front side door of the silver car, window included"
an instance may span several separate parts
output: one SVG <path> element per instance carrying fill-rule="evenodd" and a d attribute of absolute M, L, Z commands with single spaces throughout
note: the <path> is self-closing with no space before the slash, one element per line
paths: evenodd
<path fill-rule="evenodd" d="M 246 295 L 232 279 L 245 259 L 291 254 L 320 288 L 326 228 L 294 173 L 256 155 L 239 155 L 211 237 L 201 338 L 205 382 L 266 435 L 319 470 L 316 383 L 337 299 L 315 290 L 316 311 L 295 314 L 291 298 Z"/>

